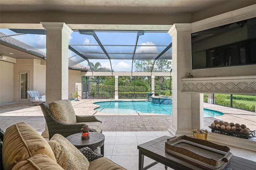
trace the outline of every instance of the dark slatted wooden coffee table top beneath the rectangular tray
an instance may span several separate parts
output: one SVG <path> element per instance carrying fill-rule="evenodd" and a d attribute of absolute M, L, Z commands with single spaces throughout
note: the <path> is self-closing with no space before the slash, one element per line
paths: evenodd
<path fill-rule="evenodd" d="M 155 140 L 138 145 L 138 149 L 142 151 L 143 155 L 153 158 L 176 170 L 205 170 L 205 168 L 197 166 L 196 164 L 166 153 L 164 146 L 168 138 L 171 137 L 162 136 L 156 138 Z M 256 162 L 233 155 L 230 162 L 228 162 L 225 167 L 232 168 L 232 170 L 256 170 Z M 223 168 L 223 170 L 225 170 L 225 168 Z"/>

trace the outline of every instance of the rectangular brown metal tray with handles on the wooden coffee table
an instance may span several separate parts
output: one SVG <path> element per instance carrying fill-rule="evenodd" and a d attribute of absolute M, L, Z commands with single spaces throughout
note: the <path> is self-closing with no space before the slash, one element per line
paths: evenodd
<path fill-rule="evenodd" d="M 165 152 L 209 170 L 221 170 L 232 157 L 227 146 L 185 135 L 167 139 Z"/>

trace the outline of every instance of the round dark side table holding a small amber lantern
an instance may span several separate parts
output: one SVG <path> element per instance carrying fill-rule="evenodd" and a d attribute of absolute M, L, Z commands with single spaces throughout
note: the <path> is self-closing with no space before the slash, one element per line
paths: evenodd
<path fill-rule="evenodd" d="M 66 138 L 78 149 L 88 146 L 91 150 L 95 150 L 100 146 L 100 153 L 104 156 L 105 136 L 102 133 L 90 132 L 90 138 L 87 140 L 82 140 L 81 133 L 75 133 Z"/>

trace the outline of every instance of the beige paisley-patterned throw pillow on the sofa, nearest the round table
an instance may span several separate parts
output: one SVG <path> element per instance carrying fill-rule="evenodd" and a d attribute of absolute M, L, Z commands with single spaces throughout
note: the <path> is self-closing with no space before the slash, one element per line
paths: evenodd
<path fill-rule="evenodd" d="M 65 170 L 88 170 L 88 159 L 66 138 L 60 134 L 54 134 L 49 140 L 57 163 Z"/>

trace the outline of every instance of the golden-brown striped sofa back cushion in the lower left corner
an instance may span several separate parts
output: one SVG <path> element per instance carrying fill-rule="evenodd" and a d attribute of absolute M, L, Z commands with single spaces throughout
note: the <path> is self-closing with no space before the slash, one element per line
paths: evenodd
<path fill-rule="evenodd" d="M 42 153 L 56 162 L 52 148 L 46 140 L 24 122 L 8 127 L 3 143 L 4 170 L 11 170 L 18 162 Z"/>

